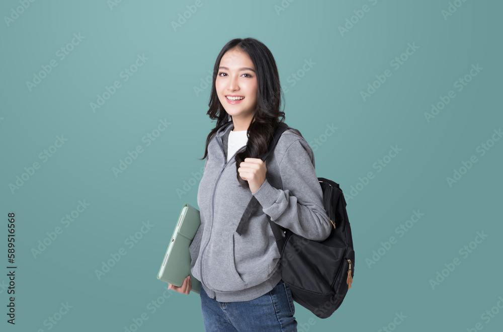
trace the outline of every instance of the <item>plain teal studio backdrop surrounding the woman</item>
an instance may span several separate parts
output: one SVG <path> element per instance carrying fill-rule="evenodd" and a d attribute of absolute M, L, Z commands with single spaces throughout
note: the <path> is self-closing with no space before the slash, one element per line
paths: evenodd
<path fill-rule="evenodd" d="M 317 176 L 341 184 L 353 229 L 355 277 L 343 305 L 320 319 L 295 303 L 298 330 L 379 331 L 402 312 L 397 331 L 466 331 L 477 322 L 500 331 L 500 309 L 488 322 L 481 315 L 503 297 L 503 140 L 483 156 L 476 148 L 503 124 L 503 4 L 466 1 L 444 19 L 448 1 L 297 0 L 277 12 L 279 0 L 203 0 L 174 31 L 171 22 L 193 4 L 36 1 L 9 25 L 5 17 L 21 5 L 0 4 L 2 330 L 125 331 L 142 313 L 148 319 L 138 331 L 204 330 L 195 293 L 170 290 L 155 312 L 148 308 L 167 287 L 156 275 L 180 209 L 197 206 L 199 158 L 215 125 L 206 115 L 210 88 L 194 87 L 227 41 L 254 37 L 273 53 L 288 89 L 286 123 L 310 142 Z M 341 35 L 364 5 L 369 11 Z M 60 60 L 57 50 L 74 33 L 85 39 Z M 395 70 L 390 62 L 408 43 L 419 48 Z M 120 72 L 137 54 L 148 60 L 124 82 Z M 30 92 L 26 82 L 51 59 L 57 66 Z M 309 59 L 315 64 L 293 85 L 289 76 Z M 483 70 L 458 92 L 454 82 L 472 64 Z M 392 75 L 364 101 L 360 92 L 386 69 Z M 90 103 L 115 80 L 121 88 L 93 112 Z M 450 90 L 456 97 L 428 122 L 424 113 Z M 160 119 L 171 124 L 146 146 L 142 137 Z M 323 137 L 332 124 L 338 129 Z M 39 154 L 58 135 L 67 141 L 43 162 Z M 315 146 L 316 138 L 324 142 Z M 116 177 L 112 168 L 137 145 L 143 152 Z M 377 172 L 390 145 L 402 150 Z M 446 178 L 471 155 L 478 161 L 450 186 Z M 35 161 L 40 169 L 13 193 L 9 184 Z M 368 172 L 375 177 L 348 198 Z M 193 185 L 179 194 L 185 182 Z M 65 227 L 60 220 L 79 200 L 90 205 Z M 413 210 L 424 216 L 399 237 L 395 228 Z M 6 315 L 9 212 L 16 214 L 15 325 Z M 126 245 L 148 221 L 153 227 Z M 57 226 L 62 233 L 35 258 L 38 241 Z M 463 258 L 460 248 L 477 231 L 487 238 Z M 390 236 L 396 243 L 369 267 L 366 259 Z M 99 279 L 95 271 L 121 247 L 126 255 Z M 461 264 L 433 288 L 430 280 L 455 258 Z M 61 302 L 73 307 L 44 325 Z"/>

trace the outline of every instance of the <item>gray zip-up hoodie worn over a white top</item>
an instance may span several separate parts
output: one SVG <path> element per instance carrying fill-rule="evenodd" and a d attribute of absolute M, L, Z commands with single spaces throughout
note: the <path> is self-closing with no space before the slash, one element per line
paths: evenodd
<path fill-rule="evenodd" d="M 313 151 L 300 133 L 290 129 L 281 135 L 266 159 L 266 180 L 252 194 L 239 187 L 235 154 L 225 162 L 233 128 L 229 121 L 208 144 L 197 193 L 201 226 L 190 245 L 192 275 L 220 302 L 253 300 L 280 281 L 281 256 L 267 215 L 278 225 L 317 241 L 327 238 L 332 227 L 323 207 Z M 252 196 L 260 205 L 239 236 L 235 230 Z"/>

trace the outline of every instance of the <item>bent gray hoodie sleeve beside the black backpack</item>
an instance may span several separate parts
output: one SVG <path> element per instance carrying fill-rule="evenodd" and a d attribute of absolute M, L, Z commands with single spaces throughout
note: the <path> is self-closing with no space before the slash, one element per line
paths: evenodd
<path fill-rule="evenodd" d="M 332 224 L 323 207 L 323 192 L 314 171 L 311 147 L 298 139 L 280 161 L 283 189 L 267 179 L 252 195 L 271 220 L 310 240 L 322 241 L 330 235 Z"/>

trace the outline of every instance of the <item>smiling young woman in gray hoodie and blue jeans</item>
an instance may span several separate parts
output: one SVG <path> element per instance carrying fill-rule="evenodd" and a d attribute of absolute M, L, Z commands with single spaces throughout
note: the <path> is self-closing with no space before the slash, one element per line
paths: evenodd
<path fill-rule="evenodd" d="M 197 195 L 201 226 L 190 245 L 191 273 L 201 281 L 204 327 L 296 331 L 292 293 L 281 280 L 280 253 L 268 217 L 306 238 L 328 237 L 331 223 L 313 151 L 298 130 L 289 129 L 266 161 L 260 159 L 285 117 L 276 62 L 263 43 L 229 41 L 213 72 L 207 114 L 217 123 L 206 139 Z M 260 207 L 239 235 L 235 230 L 252 196 Z M 181 287 L 170 284 L 169 289 L 189 294 L 190 276 Z"/>

